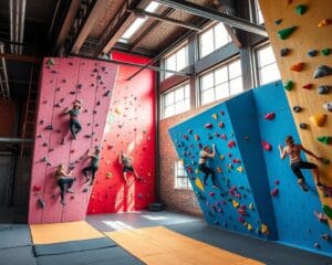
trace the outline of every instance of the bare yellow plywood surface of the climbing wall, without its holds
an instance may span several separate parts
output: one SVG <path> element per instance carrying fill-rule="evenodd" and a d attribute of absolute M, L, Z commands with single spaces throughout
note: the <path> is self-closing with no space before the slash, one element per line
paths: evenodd
<path fill-rule="evenodd" d="M 332 49 L 332 24 L 319 26 L 322 20 L 332 20 L 332 2 L 331 0 L 259 0 L 259 2 L 282 80 L 294 83 L 293 88 L 287 91 L 289 104 L 291 108 L 294 106 L 302 108 L 300 113 L 293 112 L 302 145 L 331 160 L 330 165 L 320 163 L 320 168 L 321 182 L 332 187 L 332 145 L 324 145 L 317 140 L 321 136 L 332 137 L 332 113 L 323 108 L 323 104 L 332 102 L 332 75 L 313 78 L 313 73 L 319 65 L 332 67 L 332 51 L 330 55 L 321 54 L 323 49 Z M 301 15 L 295 12 L 295 8 L 300 4 L 307 7 L 307 12 Z M 282 20 L 279 25 L 276 23 L 277 20 Z M 288 39 L 279 39 L 278 31 L 289 26 L 298 28 Z M 290 49 L 290 52 L 287 56 L 281 56 L 280 50 L 284 47 Z M 309 56 L 310 50 L 317 50 L 317 56 Z M 301 62 L 304 63 L 302 71 L 290 70 L 292 65 Z M 312 87 L 303 88 L 302 86 L 307 84 L 312 84 Z M 320 95 L 318 93 L 320 85 L 330 85 L 330 93 Z M 322 127 L 310 121 L 309 117 L 315 114 L 328 115 Z M 308 125 L 307 129 L 299 127 L 301 123 Z M 323 204 L 332 206 L 331 199 L 323 198 L 321 193 L 320 197 Z M 330 227 L 332 227 L 332 222 L 330 222 Z"/>

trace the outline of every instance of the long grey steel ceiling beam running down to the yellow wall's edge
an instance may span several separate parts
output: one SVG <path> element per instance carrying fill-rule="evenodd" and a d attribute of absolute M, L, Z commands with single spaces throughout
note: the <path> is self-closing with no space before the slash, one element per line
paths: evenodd
<path fill-rule="evenodd" d="M 240 19 L 234 15 L 229 15 L 226 13 L 220 13 L 214 9 L 205 8 L 199 4 L 188 2 L 188 1 L 179 1 L 179 0 L 155 0 L 162 4 L 167 7 L 183 10 L 185 12 L 203 17 L 209 20 L 215 20 L 228 24 L 230 26 L 251 32 L 258 35 L 268 36 L 268 32 L 261 25 L 251 23 L 248 20 Z"/>

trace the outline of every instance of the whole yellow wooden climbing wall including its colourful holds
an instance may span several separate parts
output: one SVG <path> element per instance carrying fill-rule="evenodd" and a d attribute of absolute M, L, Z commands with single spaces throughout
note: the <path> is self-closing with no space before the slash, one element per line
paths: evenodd
<path fill-rule="evenodd" d="M 332 187 L 331 1 L 259 2 L 301 141 L 324 158 L 321 182 Z M 320 198 L 332 227 L 332 200 Z"/>

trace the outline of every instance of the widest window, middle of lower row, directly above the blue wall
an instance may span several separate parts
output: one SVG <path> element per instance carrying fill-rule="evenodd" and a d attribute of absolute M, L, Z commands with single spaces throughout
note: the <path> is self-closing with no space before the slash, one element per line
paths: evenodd
<path fill-rule="evenodd" d="M 241 62 L 235 60 L 199 77 L 200 104 L 205 105 L 243 91 Z"/>

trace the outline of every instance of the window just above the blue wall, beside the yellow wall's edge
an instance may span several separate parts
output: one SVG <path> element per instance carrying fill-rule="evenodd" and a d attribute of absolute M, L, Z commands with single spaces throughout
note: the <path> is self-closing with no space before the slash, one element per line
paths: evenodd
<path fill-rule="evenodd" d="M 279 68 L 271 45 L 257 49 L 258 85 L 280 80 Z"/>

